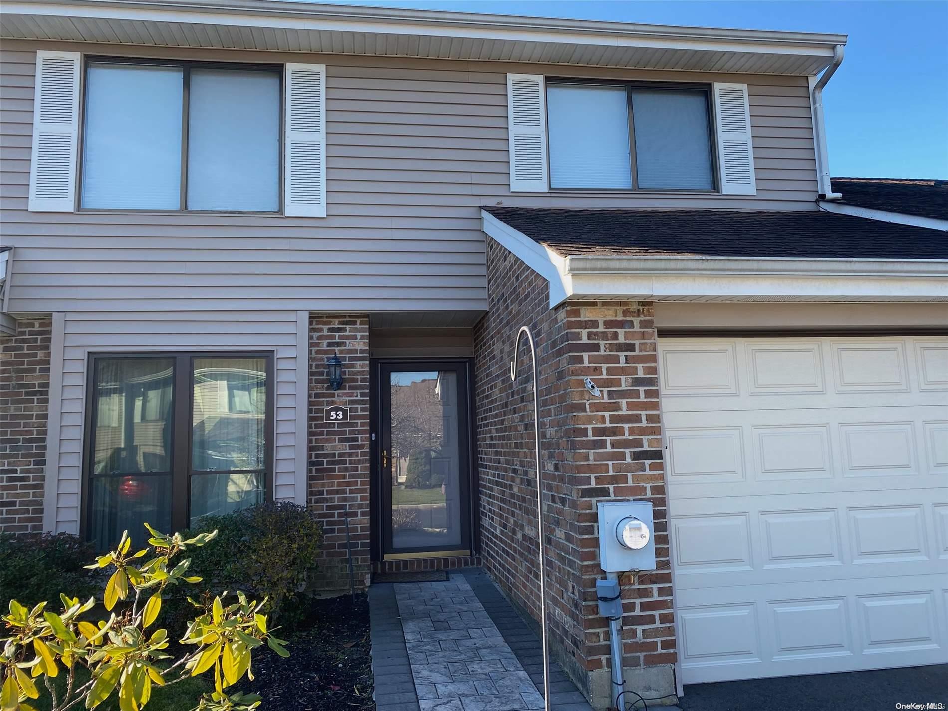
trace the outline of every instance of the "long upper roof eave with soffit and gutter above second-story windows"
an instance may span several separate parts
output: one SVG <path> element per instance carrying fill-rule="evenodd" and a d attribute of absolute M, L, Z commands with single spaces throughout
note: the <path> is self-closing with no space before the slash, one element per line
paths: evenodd
<path fill-rule="evenodd" d="M 2 36 L 812 76 L 845 35 L 353 8 L 268 0 L 11 0 Z"/>

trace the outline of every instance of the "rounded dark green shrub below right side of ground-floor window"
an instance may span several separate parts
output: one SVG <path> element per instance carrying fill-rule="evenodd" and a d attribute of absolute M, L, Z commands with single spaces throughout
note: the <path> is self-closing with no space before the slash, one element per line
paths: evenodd
<path fill-rule="evenodd" d="M 264 503 L 225 516 L 206 516 L 186 536 L 216 530 L 213 546 L 193 551 L 191 570 L 209 593 L 239 588 L 267 598 L 282 624 L 299 616 L 306 577 L 316 568 L 322 527 L 305 506 Z"/>

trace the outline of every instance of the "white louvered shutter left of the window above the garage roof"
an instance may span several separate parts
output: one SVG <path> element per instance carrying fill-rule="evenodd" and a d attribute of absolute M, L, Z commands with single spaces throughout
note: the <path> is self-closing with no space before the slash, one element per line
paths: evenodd
<path fill-rule="evenodd" d="M 546 89 L 543 77 L 507 75 L 510 190 L 547 191 Z"/>

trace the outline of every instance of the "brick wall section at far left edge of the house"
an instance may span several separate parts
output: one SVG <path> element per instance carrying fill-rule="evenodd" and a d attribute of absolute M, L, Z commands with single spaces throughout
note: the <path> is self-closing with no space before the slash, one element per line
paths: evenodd
<path fill-rule="evenodd" d="M 51 334 L 51 320 L 38 318 L 2 337 L 0 529 L 11 533 L 43 531 Z"/>

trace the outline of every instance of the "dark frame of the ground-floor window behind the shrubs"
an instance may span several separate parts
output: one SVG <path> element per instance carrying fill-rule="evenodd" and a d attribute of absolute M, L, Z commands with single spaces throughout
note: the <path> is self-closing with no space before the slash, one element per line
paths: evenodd
<path fill-rule="evenodd" d="M 132 358 L 164 358 L 173 361 L 172 375 L 172 431 L 171 431 L 171 470 L 169 472 L 124 472 L 96 474 L 95 469 L 95 433 L 99 417 L 99 400 L 96 397 L 100 360 L 127 360 Z M 266 412 L 264 415 L 263 469 L 200 469 L 193 468 L 192 459 L 192 422 L 194 416 L 193 367 L 199 358 L 261 358 L 266 372 Z M 172 487 L 171 521 L 173 533 L 191 527 L 191 477 L 213 474 L 250 474 L 256 473 L 264 479 L 264 501 L 273 501 L 273 479 L 276 466 L 276 354 L 273 351 L 147 351 L 147 352 L 97 352 L 87 357 L 86 397 L 84 432 L 82 434 L 82 501 L 80 516 L 80 538 L 89 539 L 89 513 L 92 506 L 92 480 L 98 478 L 170 476 Z M 183 393 L 183 397 L 181 396 Z M 129 535 L 139 537 L 141 531 L 129 531 Z M 115 541 L 118 542 L 118 541 Z"/>

